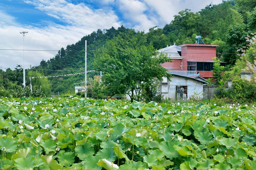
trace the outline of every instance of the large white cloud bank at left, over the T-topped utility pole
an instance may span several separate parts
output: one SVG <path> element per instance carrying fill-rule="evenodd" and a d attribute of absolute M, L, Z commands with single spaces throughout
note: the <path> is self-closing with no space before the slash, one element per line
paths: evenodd
<path fill-rule="evenodd" d="M 90 34 L 97 29 L 119 27 L 121 23 L 112 10 L 91 9 L 84 3 L 77 5 L 64 0 L 55 1 L 24 1 L 34 5 L 37 9 L 49 16 L 60 19 L 67 25 L 58 25 L 52 22 L 46 27 L 41 25 L 20 25 L 15 18 L 0 11 L 0 47 L 2 49 L 23 49 L 23 37 L 20 31 L 28 31 L 25 36 L 24 49 L 59 50 L 68 44 L 76 43 L 84 35 Z M 48 60 L 57 52 L 50 51 L 25 51 L 25 68 L 30 65 L 39 65 L 42 59 Z M 16 64 L 23 64 L 22 51 L 0 52 L 0 66 L 2 68 L 14 68 Z"/>

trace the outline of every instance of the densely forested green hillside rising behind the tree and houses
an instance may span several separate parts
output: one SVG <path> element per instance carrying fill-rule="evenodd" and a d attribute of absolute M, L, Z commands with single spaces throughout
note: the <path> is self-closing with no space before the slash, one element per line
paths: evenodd
<path fill-rule="evenodd" d="M 218 44 L 219 53 L 237 53 L 236 50 L 243 47 L 246 35 L 256 32 L 256 2 L 249 0 L 232 0 L 223 1 L 218 5 L 207 5 L 199 12 L 191 12 L 189 9 L 180 11 L 174 16 L 174 19 L 164 26 L 164 28 L 153 27 L 149 29 L 144 36 L 147 43 L 152 44 L 155 49 L 166 47 L 176 43 L 176 45 L 184 43 L 194 43 L 195 36 L 201 35 L 206 44 Z M 97 51 L 108 40 L 119 34 L 131 36 L 136 34 L 136 30 L 125 28 L 110 28 L 105 30 L 97 30 L 89 35 L 81 38 L 76 44 L 68 45 L 61 48 L 60 51 L 48 61 L 42 60 L 40 65 L 35 69 L 45 69 L 35 72 L 35 70 L 27 70 L 27 74 L 31 76 L 38 75 L 61 75 L 76 72 L 61 72 L 47 70 L 84 70 L 84 51 L 85 40 L 87 40 L 87 51 Z M 72 51 L 72 52 L 71 52 Z M 222 61 L 228 62 L 230 67 L 238 59 L 238 55 L 220 54 Z M 87 70 L 93 70 L 94 54 L 87 53 Z M 18 69 L 16 69 L 18 70 Z M 4 72 L 2 73 L 4 74 Z M 9 74 L 9 73 L 8 73 Z M 98 74 L 89 73 L 88 76 Z M 6 76 L 8 77 L 8 76 Z M 28 76 L 27 76 L 28 77 Z M 1 79 L 1 78 L 0 78 Z M 33 84 L 42 85 L 45 91 L 51 91 L 52 94 L 67 93 L 74 91 L 73 83 L 79 83 L 84 80 L 84 75 L 73 75 L 65 77 L 52 77 L 42 80 L 33 79 Z M 29 82 L 27 80 L 27 82 Z M 12 81 L 13 84 L 22 84 L 18 78 Z M 0 80 L 1 88 L 1 80 Z M 9 88 L 4 85 L 4 88 Z M 49 91 L 49 92 L 50 92 Z M 48 93 L 49 94 L 49 93 Z"/>

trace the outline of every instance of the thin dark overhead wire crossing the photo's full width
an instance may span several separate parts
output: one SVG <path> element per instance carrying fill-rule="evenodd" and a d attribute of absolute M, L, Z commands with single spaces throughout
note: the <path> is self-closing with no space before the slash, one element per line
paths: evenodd
<path fill-rule="evenodd" d="M 137 52 L 137 51 L 67 51 L 67 50 L 22 50 L 22 49 L 0 49 L 0 50 L 14 50 L 14 51 L 61 51 L 61 52 L 91 52 L 91 53 L 160 53 L 160 54 L 177 54 L 172 52 Z M 238 54 L 238 53 L 182 53 L 182 54 Z M 252 53 L 249 55 L 256 55 Z"/>

